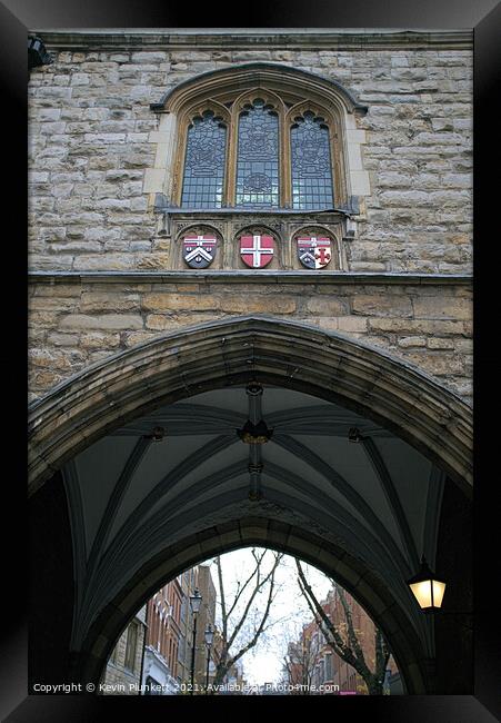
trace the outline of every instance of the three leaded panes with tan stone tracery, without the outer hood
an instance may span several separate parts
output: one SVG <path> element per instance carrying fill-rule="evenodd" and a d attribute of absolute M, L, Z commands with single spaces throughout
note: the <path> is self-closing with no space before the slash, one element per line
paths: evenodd
<path fill-rule="evenodd" d="M 325 210 L 334 207 L 335 117 L 268 89 L 211 98 L 179 135 L 181 208 Z M 227 102 L 221 102 L 226 100 Z M 219 110 L 219 112 L 218 112 Z M 181 159 L 183 159 L 181 164 Z M 339 162 L 338 162 L 339 167 Z"/>

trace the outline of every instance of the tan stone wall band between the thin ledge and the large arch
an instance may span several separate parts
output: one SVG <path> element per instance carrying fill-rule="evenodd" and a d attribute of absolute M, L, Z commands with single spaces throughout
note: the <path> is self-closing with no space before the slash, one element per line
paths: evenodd
<path fill-rule="evenodd" d="M 469 286 L 281 284 L 216 279 L 111 283 L 59 280 L 31 289 L 30 388 L 42 396 L 89 364 L 184 326 L 269 314 L 335 330 L 405 359 L 467 399 L 471 395 Z"/>

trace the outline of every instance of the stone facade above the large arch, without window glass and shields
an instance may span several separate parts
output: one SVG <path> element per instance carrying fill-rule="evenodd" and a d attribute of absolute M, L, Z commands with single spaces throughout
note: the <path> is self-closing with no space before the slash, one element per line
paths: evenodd
<path fill-rule="evenodd" d="M 471 399 L 471 33 L 40 37 L 53 62 L 29 83 L 32 399 L 158 335 L 250 313 L 363 339 Z M 239 206 L 234 172 L 212 211 L 182 202 L 188 118 L 254 88 L 285 116 L 330 113 L 330 209 L 297 209 L 287 189 L 277 208 Z M 259 225 L 278 249 L 249 269 L 238 235 Z M 187 229 L 218 240 L 206 270 L 183 263 Z M 325 268 L 300 264 L 301 232 L 331 239 Z"/>

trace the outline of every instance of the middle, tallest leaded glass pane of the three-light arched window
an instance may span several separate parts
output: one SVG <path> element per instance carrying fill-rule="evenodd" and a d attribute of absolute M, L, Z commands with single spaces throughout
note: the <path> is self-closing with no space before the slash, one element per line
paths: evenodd
<path fill-rule="evenodd" d="M 278 208 L 279 119 L 263 100 L 254 100 L 239 119 L 237 206 Z"/>

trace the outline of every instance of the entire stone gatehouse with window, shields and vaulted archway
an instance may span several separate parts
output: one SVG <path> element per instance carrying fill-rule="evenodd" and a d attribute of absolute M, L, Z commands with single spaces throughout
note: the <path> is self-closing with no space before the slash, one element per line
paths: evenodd
<path fill-rule="evenodd" d="M 32 34 L 31 680 L 260 545 L 471 693 L 472 33 Z"/>

